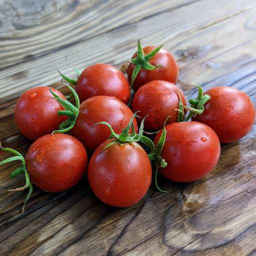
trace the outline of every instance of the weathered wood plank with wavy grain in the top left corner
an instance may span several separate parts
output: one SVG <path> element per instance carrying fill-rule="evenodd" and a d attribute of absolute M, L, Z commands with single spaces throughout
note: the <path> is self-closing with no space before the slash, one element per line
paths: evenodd
<path fill-rule="evenodd" d="M 0 4 L 0 68 L 196 1 L 7 0 Z"/>

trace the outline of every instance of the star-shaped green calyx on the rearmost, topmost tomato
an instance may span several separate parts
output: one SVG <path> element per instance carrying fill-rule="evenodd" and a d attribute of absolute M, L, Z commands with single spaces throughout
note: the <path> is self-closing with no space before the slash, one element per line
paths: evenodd
<path fill-rule="evenodd" d="M 130 63 L 135 65 L 135 68 L 132 74 L 132 79 L 131 79 L 131 88 L 133 88 L 134 81 L 142 68 L 147 70 L 155 70 L 161 67 L 161 65 L 158 65 L 158 66 L 152 65 L 150 63 L 150 60 L 160 51 L 162 46 L 163 45 L 160 45 L 159 47 L 154 49 L 152 52 L 145 55 L 142 49 L 141 42 L 140 40 L 138 41 L 137 57 L 130 60 Z"/>

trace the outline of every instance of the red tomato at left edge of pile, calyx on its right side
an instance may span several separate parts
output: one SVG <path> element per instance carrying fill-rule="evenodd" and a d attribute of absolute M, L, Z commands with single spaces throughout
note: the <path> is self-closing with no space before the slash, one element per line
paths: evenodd
<path fill-rule="evenodd" d="M 36 87 L 24 92 L 15 107 L 15 121 L 21 133 L 31 140 L 52 133 L 59 124 L 67 119 L 59 116 L 58 111 L 64 110 L 61 104 L 53 99 L 51 87 Z M 65 96 L 51 88 L 57 95 Z"/>

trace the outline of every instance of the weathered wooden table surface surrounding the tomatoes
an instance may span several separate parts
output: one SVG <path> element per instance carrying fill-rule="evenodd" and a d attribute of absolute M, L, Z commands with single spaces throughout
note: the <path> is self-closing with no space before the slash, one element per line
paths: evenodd
<path fill-rule="evenodd" d="M 38 85 L 60 87 L 57 69 L 120 67 L 144 46 L 164 44 L 180 66 L 186 96 L 238 88 L 256 103 L 255 0 L 5 0 L 0 2 L 0 141 L 23 154 L 31 144 L 14 121 L 17 97 Z M 68 192 L 34 190 L 21 214 L 24 184 L 0 172 L 1 255 L 256 255 L 256 130 L 223 145 L 217 167 L 188 184 L 161 179 L 137 205 L 101 203 L 86 181 Z M 1 160 L 11 154 L 1 152 Z M 202 156 L 203 157 L 203 156 Z"/>

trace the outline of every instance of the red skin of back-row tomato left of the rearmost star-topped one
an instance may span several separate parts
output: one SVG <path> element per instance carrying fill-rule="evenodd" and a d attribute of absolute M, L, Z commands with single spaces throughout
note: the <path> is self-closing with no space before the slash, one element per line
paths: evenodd
<path fill-rule="evenodd" d="M 76 92 L 80 102 L 98 95 L 113 96 L 127 104 L 130 85 L 123 73 L 108 64 L 95 64 L 86 68 L 78 77 Z"/>

